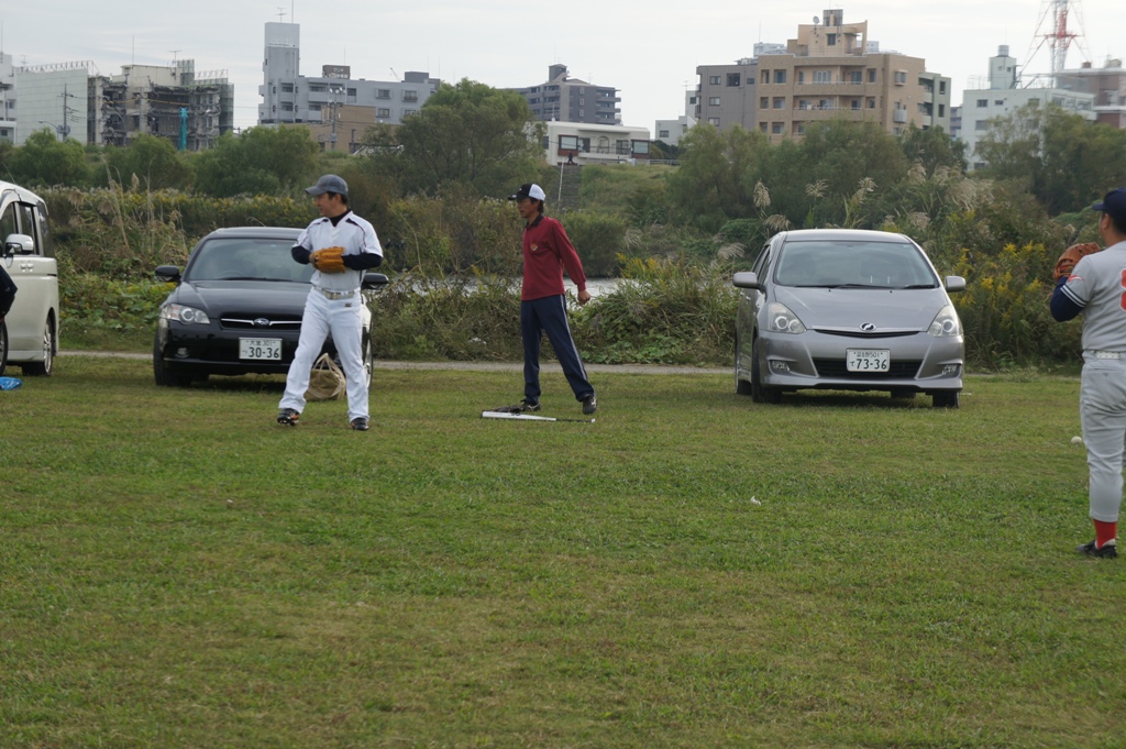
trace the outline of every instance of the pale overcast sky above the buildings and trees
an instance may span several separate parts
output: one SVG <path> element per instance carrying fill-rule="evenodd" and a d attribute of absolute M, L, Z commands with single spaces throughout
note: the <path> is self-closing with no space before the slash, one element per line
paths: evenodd
<path fill-rule="evenodd" d="M 882 51 L 922 57 L 948 75 L 953 104 L 972 77 L 984 77 L 998 45 L 1028 72 L 1049 69 L 1051 0 L 858 0 L 765 2 L 618 0 L 570 3 L 507 0 L 310 2 L 309 0 L 34 0 L 0 9 L 2 44 L 17 65 L 88 60 L 109 75 L 120 66 L 195 60 L 197 72 L 225 70 L 235 86 L 235 125 L 253 125 L 262 82 L 265 24 L 301 25 L 301 72 L 347 64 L 352 78 L 401 80 L 428 71 L 446 81 L 470 78 L 498 88 L 542 83 L 563 63 L 572 78 L 620 90 L 623 124 L 653 130 L 654 121 L 683 114 L 683 92 L 696 65 L 749 57 L 756 42 L 797 35 L 798 24 L 843 8 L 844 23 L 868 21 L 868 41 Z M 1121 6 L 1112 0 L 1072 2 L 1067 66 L 1101 66 L 1126 55 Z M 1080 24 L 1081 21 L 1081 24 Z M 393 72 L 394 71 L 394 72 Z"/>

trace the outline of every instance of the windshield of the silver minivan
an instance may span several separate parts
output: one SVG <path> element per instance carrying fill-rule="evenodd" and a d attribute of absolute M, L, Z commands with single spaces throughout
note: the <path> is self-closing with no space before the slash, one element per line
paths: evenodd
<path fill-rule="evenodd" d="M 824 288 L 935 288 L 938 279 L 910 242 L 786 242 L 775 283 Z"/>

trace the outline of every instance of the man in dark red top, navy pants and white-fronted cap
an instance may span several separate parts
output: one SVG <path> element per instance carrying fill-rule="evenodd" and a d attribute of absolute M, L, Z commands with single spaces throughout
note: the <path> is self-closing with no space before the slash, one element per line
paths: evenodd
<path fill-rule="evenodd" d="M 595 387 L 587 380 L 587 371 L 579 357 L 579 349 L 566 322 L 566 301 L 563 288 L 563 269 L 579 287 L 579 304 L 590 301 L 587 274 L 574 246 L 563 225 L 544 215 L 544 195 L 539 185 L 521 185 L 516 195 L 516 207 L 524 219 L 524 286 L 520 291 L 520 330 L 524 335 L 524 400 L 511 407 L 512 411 L 539 410 L 539 344 L 543 333 L 555 349 L 555 358 L 563 367 L 575 400 L 582 412 L 598 410 Z"/>

